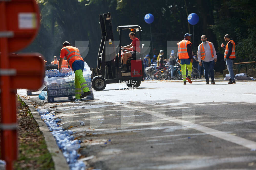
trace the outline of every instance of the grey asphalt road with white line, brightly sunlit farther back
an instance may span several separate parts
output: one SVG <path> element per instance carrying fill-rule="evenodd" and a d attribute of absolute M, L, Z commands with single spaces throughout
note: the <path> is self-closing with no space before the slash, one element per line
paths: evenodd
<path fill-rule="evenodd" d="M 95 100 L 75 103 L 49 104 L 29 97 L 58 111 L 62 126 L 83 140 L 80 153 L 94 156 L 88 166 L 256 169 L 255 81 L 145 81 L 137 90 L 123 87 L 107 84 L 104 91 L 94 91 Z"/>

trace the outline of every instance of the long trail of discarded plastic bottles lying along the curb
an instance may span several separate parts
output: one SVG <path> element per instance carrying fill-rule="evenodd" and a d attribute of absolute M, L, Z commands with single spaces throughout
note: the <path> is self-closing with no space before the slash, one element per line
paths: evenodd
<path fill-rule="evenodd" d="M 84 170 L 86 165 L 82 161 L 78 161 L 80 154 L 77 150 L 81 147 L 80 140 L 74 140 L 73 132 L 71 130 L 65 130 L 62 126 L 57 123 L 61 121 L 60 118 L 54 119 L 55 115 L 50 113 L 43 107 L 37 107 L 37 111 L 44 120 L 45 124 L 52 131 L 59 149 L 62 150 L 63 156 L 65 157 L 69 168 L 71 170 Z"/>

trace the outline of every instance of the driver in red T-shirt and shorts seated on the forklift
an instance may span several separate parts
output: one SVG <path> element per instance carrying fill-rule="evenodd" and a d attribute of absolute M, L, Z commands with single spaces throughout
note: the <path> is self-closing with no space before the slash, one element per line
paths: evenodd
<path fill-rule="evenodd" d="M 123 65 L 122 68 L 126 68 L 127 59 L 130 57 L 136 57 L 136 52 L 140 53 L 140 40 L 136 37 L 136 34 L 134 32 L 129 33 L 129 37 L 132 40 L 132 43 L 130 45 L 121 46 L 121 48 L 125 48 L 131 52 L 124 53 L 123 57 Z"/>

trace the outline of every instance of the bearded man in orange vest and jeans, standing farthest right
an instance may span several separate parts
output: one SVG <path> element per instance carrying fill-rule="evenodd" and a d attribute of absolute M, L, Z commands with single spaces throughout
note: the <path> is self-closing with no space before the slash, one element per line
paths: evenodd
<path fill-rule="evenodd" d="M 228 67 L 230 77 L 228 84 L 236 84 L 233 71 L 233 62 L 234 59 L 236 58 L 236 44 L 233 41 L 233 39 L 230 38 L 229 34 L 226 34 L 224 39 L 226 42 L 228 42 L 226 46 L 223 43 L 221 44 L 221 47 L 225 48 L 224 58 L 226 59 L 226 64 Z"/>

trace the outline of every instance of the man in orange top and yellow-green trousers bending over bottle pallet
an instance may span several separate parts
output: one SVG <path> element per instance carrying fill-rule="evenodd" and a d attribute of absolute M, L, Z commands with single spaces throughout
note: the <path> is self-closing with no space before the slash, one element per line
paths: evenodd
<path fill-rule="evenodd" d="M 88 85 L 83 77 L 84 61 L 81 57 L 78 48 L 70 45 L 68 41 L 65 41 L 60 51 L 60 67 L 61 69 L 63 58 L 66 56 L 69 65 L 75 73 L 75 85 L 76 85 L 76 97 L 71 101 L 81 101 L 82 98 L 91 94 Z"/>

